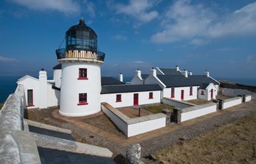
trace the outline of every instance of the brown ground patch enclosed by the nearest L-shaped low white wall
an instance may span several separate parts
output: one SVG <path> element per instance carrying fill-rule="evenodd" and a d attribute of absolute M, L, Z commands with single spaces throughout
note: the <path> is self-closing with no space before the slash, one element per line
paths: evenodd
<path fill-rule="evenodd" d="M 130 117 L 130 118 L 139 117 L 139 109 L 135 107 L 121 108 L 121 109 L 118 109 L 118 111 L 122 112 L 123 114 L 127 115 L 127 117 Z M 153 114 L 153 113 L 140 107 L 140 116 L 146 116 L 149 114 Z"/>

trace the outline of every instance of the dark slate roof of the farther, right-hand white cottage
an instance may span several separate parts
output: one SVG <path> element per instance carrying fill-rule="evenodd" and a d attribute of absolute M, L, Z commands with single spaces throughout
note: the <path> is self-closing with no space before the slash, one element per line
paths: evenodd
<path fill-rule="evenodd" d="M 166 87 L 186 87 L 199 86 L 201 84 L 219 85 L 214 79 L 205 75 L 192 75 L 187 78 L 183 75 L 157 75 L 157 77 L 166 85 Z"/>

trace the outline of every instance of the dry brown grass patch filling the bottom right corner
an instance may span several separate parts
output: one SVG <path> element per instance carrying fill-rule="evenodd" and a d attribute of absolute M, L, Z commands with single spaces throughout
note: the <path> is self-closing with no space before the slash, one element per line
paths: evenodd
<path fill-rule="evenodd" d="M 256 163 L 256 114 L 156 153 L 159 163 Z"/>

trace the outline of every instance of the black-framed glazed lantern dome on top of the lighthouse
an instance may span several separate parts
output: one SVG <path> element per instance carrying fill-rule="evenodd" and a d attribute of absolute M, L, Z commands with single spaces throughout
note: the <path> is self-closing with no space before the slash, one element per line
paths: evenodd
<path fill-rule="evenodd" d="M 83 17 L 66 32 L 66 50 L 89 50 L 97 52 L 97 34 L 86 26 Z"/>

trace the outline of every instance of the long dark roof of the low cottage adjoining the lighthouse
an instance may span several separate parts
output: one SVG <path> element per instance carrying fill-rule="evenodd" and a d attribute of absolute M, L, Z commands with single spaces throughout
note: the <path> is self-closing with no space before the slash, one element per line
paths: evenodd
<path fill-rule="evenodd" d="M 133 93 L 154 90 L 162 90 L 162 88 L 159 85 L 103 85 L 101 93 Z"/>

